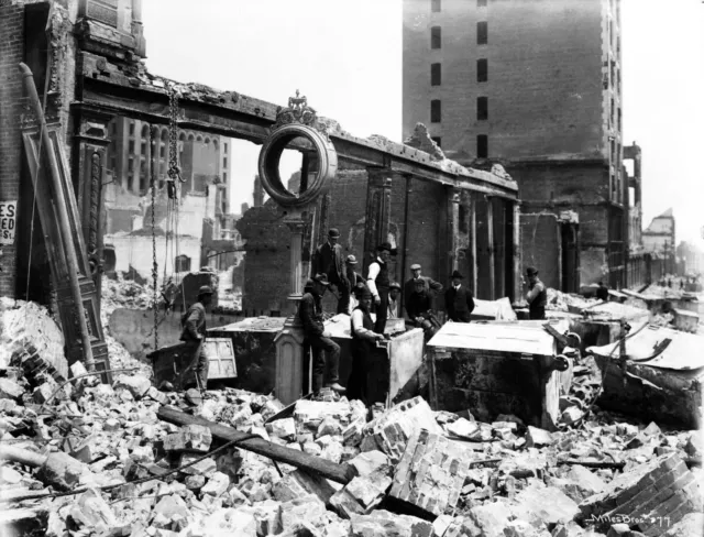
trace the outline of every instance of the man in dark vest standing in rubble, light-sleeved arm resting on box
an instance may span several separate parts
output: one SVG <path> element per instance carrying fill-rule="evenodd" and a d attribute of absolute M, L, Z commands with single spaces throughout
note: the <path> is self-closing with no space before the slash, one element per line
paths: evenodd
<path fill-rule="evenodd" d="M 350 335 L 352 343 L 350 353 L 352 354 L 352 371 L 348 381 L 348 398 L 360 399 L 365 405 L 367 401 L 367 384 L 373 364 L 370 363 L 374 343 L 383 340 L 384 336 L 374 331 L 374 321 L 370 315 L 372 307 L 372 293 L 366 286 L 355 288 L 358 306 L 352 310 Z"/>

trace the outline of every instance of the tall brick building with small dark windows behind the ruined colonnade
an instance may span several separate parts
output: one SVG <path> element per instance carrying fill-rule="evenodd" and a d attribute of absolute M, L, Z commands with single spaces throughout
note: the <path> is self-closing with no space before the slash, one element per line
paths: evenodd
<path fill-rule="evenodd" d="M 626 285 L 620 80 L 620 0 L 404 0 L 404 135 L 575 211 L 583 284 Z"/>

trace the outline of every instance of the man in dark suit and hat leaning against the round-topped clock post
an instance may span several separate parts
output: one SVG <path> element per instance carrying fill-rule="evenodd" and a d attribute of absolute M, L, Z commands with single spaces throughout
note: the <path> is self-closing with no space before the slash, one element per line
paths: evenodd
<path fill-rule="evenodd" d="M 322 322 L 322 295 L 326 294 L 330 282 L 328 282 L 326 274 L 316 274 L 306 286 L 310 288 L 310 292 L 306 293 L 300 299 L 298 317 L 304 325 L 306 339 L 312 348 L 312 391 L 316 393 L 322 387 L 326 375 L 326 358 L 323 353 L 326 353 L 330 372 L 328 387 L 336 392 L 344 392 L 344 387 L 339 383 L 340 346 L 329 338 Z"/>

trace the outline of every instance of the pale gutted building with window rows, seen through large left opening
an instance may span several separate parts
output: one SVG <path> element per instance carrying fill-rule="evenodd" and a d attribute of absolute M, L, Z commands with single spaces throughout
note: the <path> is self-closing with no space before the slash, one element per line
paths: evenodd
<path fill-rule="evenodd" d="M 105 193 L 108 270 L 134 270 L 143 275 L 151 271 L 152 206 L 144 197 L 150 189 L 152 165 L 158 187 L 154 226 L 160 263 L 173 266 L 174 272 L 188 272 L 202 265 L 220 267 L 231 261 L 218 255 L 232 250 L 239 237 L 234 229 L 237 218 L 229 215 L 230 139 L 178 131 L 178 163 L 184 183 L 178 212 L 169 215 L 173 209 L 168 208 L 165 188 L 170 157 L 168 128 L 160 125 L 152 133 L 148 123 L 117 117 L 108 130 L 106 175 L 109 180 Z M 156 154 L 152 155 L 152 151 Z M 168 241 L 175 235 L 178 244 L 169 250 Z"/>

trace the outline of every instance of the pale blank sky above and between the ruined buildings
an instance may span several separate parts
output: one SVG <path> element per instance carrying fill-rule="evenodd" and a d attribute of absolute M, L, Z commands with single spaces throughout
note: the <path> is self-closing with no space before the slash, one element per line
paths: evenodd
<path fill-rule="evenodd" d="M 582 0 L 566 0 L 582 1 Z M 148 69 L 275 103 L 296 89 L 360 136 L 402 141 L 402 0 L 144 0 Z M 644 227 L 704 227 L 704 3 L 623 0 L 624 143 L 642 147 Z M 233 210 L 258 147 L 233 143 Z"/>

